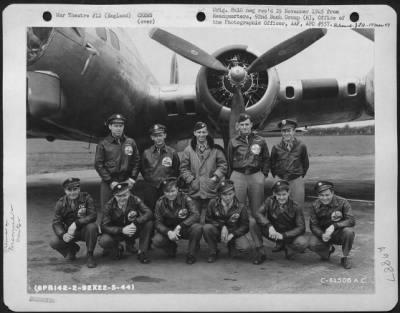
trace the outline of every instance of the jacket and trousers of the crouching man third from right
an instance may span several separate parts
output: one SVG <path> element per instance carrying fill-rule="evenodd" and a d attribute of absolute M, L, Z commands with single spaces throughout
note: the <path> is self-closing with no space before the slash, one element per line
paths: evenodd
<path fill-rule="evenodd" d="M 249 215 L 247 208 L 235 198 L 232 207 L 225 213 L 220 197 L 212 199 L 207 208 L 206 224 L 203 226 L 203 236 L 208 243 L 209 254 L 217 253 L 217 244 L 221 239 L 222 227 L 226 226 L 228 232 L 234 237 L 229 242 L 229 247 L 242 253 L 248 253 L 251 245 L 246 238 L 249 231 Z"/>

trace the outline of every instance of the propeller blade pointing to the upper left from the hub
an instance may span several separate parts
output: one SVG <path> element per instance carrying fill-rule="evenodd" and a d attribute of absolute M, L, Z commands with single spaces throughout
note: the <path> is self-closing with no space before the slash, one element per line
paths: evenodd
<path fill-rule="evenodd" d="M 150 38 L 163 46 L 175 51 L 177 54 L 207 68 L 228 72 L 228 69 L 215 57 L 201 50 L 190 42 L 183 40 L 160 28 L 153 28 L 149 33 Z"/>

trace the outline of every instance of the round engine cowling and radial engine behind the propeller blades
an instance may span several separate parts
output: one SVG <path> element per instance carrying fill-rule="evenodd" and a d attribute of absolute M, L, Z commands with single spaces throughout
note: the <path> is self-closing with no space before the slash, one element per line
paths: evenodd
<path fill-rule="evenodd" d="M 249 51 L 245 45 L 224 47 L 213 54 L 228 69 L 239 69 L 238 75 L 244 73 L 241 90 L 246 113 L 252 117 L 255 125 L 265 120 L 275 103 L 279 93 L 279 77 L 274 68 L 268 71 L 248 74 L 247 67 L 257 58 L 257 54 Z M 240 67 L 244 71 L 240 71 Z M 232 77 L 235 71 L 221 73 L 202 67 L 197 75 L 196 94 L 213 119 L 222 125 L 229 123 L 231 99 L 234 95 Z"/>

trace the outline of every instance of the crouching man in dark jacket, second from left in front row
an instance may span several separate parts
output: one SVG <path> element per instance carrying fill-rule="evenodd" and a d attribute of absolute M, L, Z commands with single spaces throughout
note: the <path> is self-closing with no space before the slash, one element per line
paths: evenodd
<path fill-rule="evenodd" d="M 119 183 L 112 191 L 114 196 L 103 212 L 100 246 L 118 260 L 124 251 L 121 242 L 125 241 L 127 247 L 134 246 L 135 239 L 139 238 L 138 260 L 149 263 L 146 253 L 153 229 L 153 213 L 139 197 L 130 193 L 128 183 Z"/>

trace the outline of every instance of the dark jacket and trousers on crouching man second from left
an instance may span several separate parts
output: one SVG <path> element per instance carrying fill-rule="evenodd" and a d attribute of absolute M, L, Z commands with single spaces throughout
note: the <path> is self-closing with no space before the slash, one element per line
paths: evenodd
<path fill-rule="evenodd" d="M 103 211 L 100 246 L 105 250 L 115 251 L 120 241 L 133 246 L 135 239 L 139 238 L 139 249 L 143 253 L 147 252 L 153 229 L 152 218 L 153 213 L 139 197 L 130 195 L 125 211 L 118 207 L 118 202 L 113 197 Z M 128 237 L 122 233 L 122 229 L 131 223 L 135 224 L 137 230 L 133 236 Z"/>

